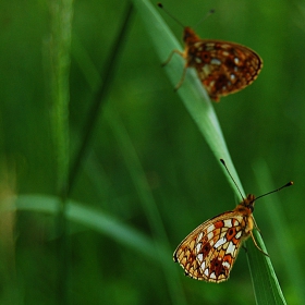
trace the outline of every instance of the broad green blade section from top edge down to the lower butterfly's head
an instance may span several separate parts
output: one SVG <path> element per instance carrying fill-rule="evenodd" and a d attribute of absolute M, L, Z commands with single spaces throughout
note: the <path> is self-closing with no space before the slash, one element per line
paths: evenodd
<path fill-rule="evenodd" d="M 184 62 L 179 56 L 173 57 L 171 62 L 167 64 L 166 68 L 161 68 L 161 62 L 163 62 L 169 57 L 173 49 L 181 50 L 181 45 L 178 42 L 172 32 L 163 22 L 159 12 L 156 10 L 157 5 L 154 7 L 148 1 L 144 0 L 134 0 L 133 2 L 139 12 L 139 15 L 143 17 L 143 22 L 147 26 L 147 32 L 150 35 L 156 51 L 160 57 L 160 69 L 163 69 L 168 74 L 173 84 L 172 88 L 174 88 L 178 82 L 178 75 L 181 75 L 182 73 Z M 185 81 L 176 94 L 181 97 L 184 106 L 206 138 L 216 158 L 218 160 L 220 158 L 224 159 L 231 174 L 243 192 L 242 184 L 227 148 L 218 118 L 213 111 L 212 105 L 205 88 L 203 87 L 193 69 L 187 70 Z M 221 169 L 228 176 L 229 183 L 233 187 L 234 192 L 236 192 L 236 187 L 228 175 L 225 169 L 222 166 Z M 240 197 L 237 192 L 236 194 Z"/>

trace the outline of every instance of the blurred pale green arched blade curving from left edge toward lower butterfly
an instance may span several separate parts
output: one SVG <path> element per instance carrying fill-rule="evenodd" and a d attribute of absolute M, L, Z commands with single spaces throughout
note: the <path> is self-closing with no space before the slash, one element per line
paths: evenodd
<path fill-rule="evenodd" d="M 56 215 L 59 198 L 38 194 L 21 195 L 19 197 L 5 198 L 1 202 L 1 210 L 28 210 Z M 137 253 L 155 261 L 164 261 L 170 255 L 162 245 L 156 245 L 148 236 L 139 231 L 123 224 L 121 220 L 88 207 L 87 203 L 81 204 L 74 200 L 66 202 L 66 219 L 83 224 L 101 234 L 105 234 L 120 244 L 134 248 Z M 159 255 L 156 254 L 158 247 Z"/>

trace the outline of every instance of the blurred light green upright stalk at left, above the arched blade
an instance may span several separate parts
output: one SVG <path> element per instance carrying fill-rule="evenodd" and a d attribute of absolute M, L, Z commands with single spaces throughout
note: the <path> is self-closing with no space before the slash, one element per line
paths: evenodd
<path fill-rule="evenodd" d="M 65 196 L 69 169 L 69 73 L 73 1 L 50 5 L 49 42 L 51 80 L 51 124 L 57 161 L 57 192 Z M 63 194 L 62 194 L 63 192 Z"/>

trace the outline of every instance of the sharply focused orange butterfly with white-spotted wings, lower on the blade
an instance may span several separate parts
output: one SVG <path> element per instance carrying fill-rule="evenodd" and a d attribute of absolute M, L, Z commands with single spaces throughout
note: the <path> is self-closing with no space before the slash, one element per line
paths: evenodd
<path fill-rule="evenodd" d="M 227 169 L 222 159 L 221 162 Z M 253 217 L 254 203 L 292 184 L 293 182 L 289 182 L 257 198 L 249 194 L 232 211 L 222 212 L 205 221 L 180 243 L 173 253 L 173 260 L 193 279 L 220 283 L 229 279 L 239 249 L 249 236 L 255 246 L 268 256 L 257 245 L 253 235 L 253 230 L 258 230 Z"/>

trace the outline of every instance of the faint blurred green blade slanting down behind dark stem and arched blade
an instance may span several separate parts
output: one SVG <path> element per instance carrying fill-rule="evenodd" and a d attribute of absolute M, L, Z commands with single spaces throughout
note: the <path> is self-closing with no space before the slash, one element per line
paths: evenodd
<path fill-rule="evenodd" d="M 82 71 L 88 82 L 88 84 L 97 84 L 100 82 L 100 75 L 98 71 L 96 71 L 95 65 L 87 57 L 86 51 L 82 48 L 80 41 L 77 41 L 77 61 Z M 86 62 L 86 66 L 84 65 Z M 90 73 L 86 73 L 87 66 L 90 66 Z M 94 88 L 94 86 L 93 86 Z M 171 253 L 171 246 L 168 241 L 167 232 L 164 229 L 164 224 L 162 222 L 161 216 L 157 208 L 157 203 L 154 199 L 151 194 L 151 190 L 148 185 L 147 178 L 145 174 L 145 170 L 142 167 L 142 163 L 136 154 L 136 149 L 133 146 L 133 143 L 129 136 L 127 131 L 123 122 L 120 120 L 119 111 L 112 109 L 112 105 L 105 106 L 105 119 L 108 121 L 109 126 L 112 129 L 113 135 L 117 138 L 117 143 L 119 145 L 119 150 L 122 151 L 122 157 L 125 162 L 125 167 L 130 173 L 131 180 L 133 181 L 134 187 L 139 197 L 139 202 L 143 206 L 143 210 L 145 211 L 146 218 L 148 220 L 150 230 L 154 235 L 154 242 L 157 243 L 155 247 L 155 253 L 161 251 L 162 253 L 166 251 Z M 158 245 L 162 244 L 162 248 Z M 169 257 L 169 256 L 168 256 Z M 169 291 L 171 294 L 172 303 L 174 304 L 186 304 L 184 291 L 182 289 L 181 278 L 179 277 L 178 269 L 174 268 L 172 264 L 168 264 L 167 259 L 160 259 L 161 266 L 163 268 L 164 277 L 167 279 L 167 283 L 169 286 Z"/>

